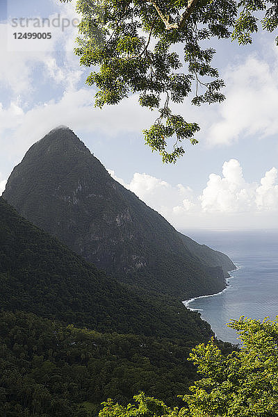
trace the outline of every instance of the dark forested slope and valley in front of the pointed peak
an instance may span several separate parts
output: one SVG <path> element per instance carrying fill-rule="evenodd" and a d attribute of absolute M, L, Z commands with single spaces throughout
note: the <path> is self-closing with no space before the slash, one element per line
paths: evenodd
<path fill-rule="evenodd" d="M 2 197 L 0 305 L 6 417 L 89 417 L 140 390 L 178 404 L 197 377 L 190 348 L 212 335 L 198 313 L 107 277 Z"/>

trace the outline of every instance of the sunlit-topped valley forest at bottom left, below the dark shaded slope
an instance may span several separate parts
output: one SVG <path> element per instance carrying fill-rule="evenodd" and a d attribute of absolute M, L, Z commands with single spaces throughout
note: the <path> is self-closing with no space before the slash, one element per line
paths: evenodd
<path fill-rule="evenodd" d="M 126 404 L 140 390 L 178 404 L 196 378 L 186 361 L 190 347 L 3 311 L 0 416 L 91 417 L 106 398 Z"/>

